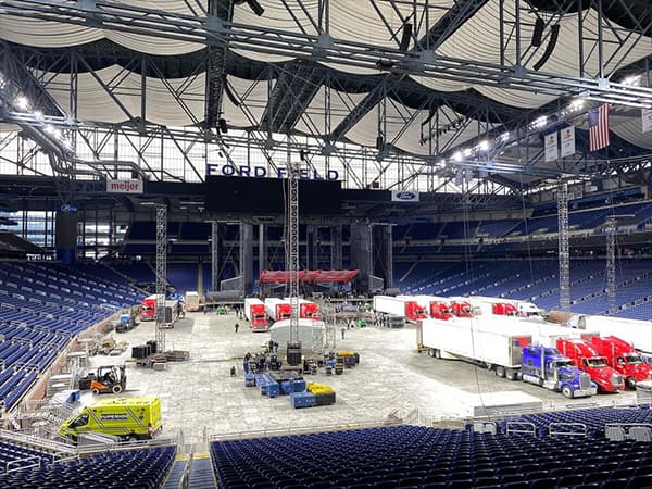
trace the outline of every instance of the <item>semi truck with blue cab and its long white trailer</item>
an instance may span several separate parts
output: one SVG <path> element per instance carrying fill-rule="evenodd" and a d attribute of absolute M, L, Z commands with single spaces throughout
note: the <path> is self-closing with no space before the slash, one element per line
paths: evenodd
<path fill-rule="evenodd" d="M 531 328 L 517 322 L 497 328 L 477 319 L 424 321 L 422 341 L 432 356 L 469 361 L 500 377 L 522 379 L 567 398 L 598 391 L 590 376 L 575 367 L 570 359 L 553 348 L 532 344 Z"/>

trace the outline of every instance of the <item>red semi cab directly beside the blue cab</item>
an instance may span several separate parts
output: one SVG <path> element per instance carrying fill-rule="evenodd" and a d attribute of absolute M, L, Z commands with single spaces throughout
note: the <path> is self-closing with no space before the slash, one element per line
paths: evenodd
<path fill-rule="evenodd" d="M 576 367 L 591 376 L 603 392 L 619 392 L 625 389 L 623 376 L 609 366 L 606 359 L 600 355 L 591 343 L 579 338 L 560 338 L 557 350 L 568 356 Z"/>

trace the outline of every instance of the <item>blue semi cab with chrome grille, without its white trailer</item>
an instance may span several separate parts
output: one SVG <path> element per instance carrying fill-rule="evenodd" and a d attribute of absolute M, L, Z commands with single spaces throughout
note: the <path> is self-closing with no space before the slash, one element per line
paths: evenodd
<path fill-rule="evenodd" d="M 584 398 L 598 392 L 598 385 L 586 372 L 573 365 L 573 361 L 554 348 L 529 346 L 523 349 L 521 378 L 550 390 L 562 392 L 566 398 Z M 541 368 L 541 363 L 546 369 Z"/>

